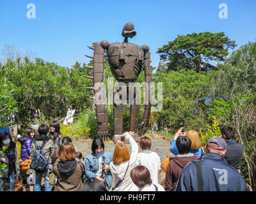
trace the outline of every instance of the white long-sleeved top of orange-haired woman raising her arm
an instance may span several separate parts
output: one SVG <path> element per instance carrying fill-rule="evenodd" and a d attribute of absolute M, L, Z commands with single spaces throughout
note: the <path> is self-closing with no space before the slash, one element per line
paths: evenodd
<path fill-rule="evenodd" d="M 122 180 L 118 187 L 114 191 L 138 191 L 138 187 L 132 182 L 131 176 L 130 176 L 130 171 L 132 168 L 135 167 L 136 165 L 136 159 L 138 156 L 139 152 L 139 147 L 137 143 L 135 142 L 134 138 L 127 133 L 125 136 L 125 140 L 129 140 L 129 143 L 131 144 L 131 155 L 130 155 L 130 160 L 129 160 L 129 168 L 127 170 L 127 173 L 124 177 L 125 171 L 128 166 L 128 161 L 125 163 L 121 163 L 119 166 L 115 165 L 113 161 L 109 164 L 109 168 L 111 170 L 111 173 L 113 174 L 113 177 L 115 179 L 115 184 L 113 184 L 113 187 L 115 187 L 116 183 L 118 180 Z"/>

